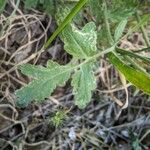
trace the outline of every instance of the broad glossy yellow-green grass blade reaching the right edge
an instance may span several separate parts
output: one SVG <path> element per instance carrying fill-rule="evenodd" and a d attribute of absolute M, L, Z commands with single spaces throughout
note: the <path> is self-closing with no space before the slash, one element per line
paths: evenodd
<path fill-rule="evenodd" d="M 129 65 L 126 65 L 120 58 L 114 54 L 108 55 L 110 62 L 124 74 L 126 79 L 140 90 L 147 94 L 150 94 L 150 75 L 140 70 L 134 69 Z"/>

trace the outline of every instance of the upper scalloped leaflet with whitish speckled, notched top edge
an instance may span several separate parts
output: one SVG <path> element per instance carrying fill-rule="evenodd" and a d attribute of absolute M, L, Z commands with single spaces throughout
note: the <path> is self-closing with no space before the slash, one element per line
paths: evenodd
<path fill-rule="evenodd" d="M 74 25 L 68 26 L 62 32 L 65 50 L 73 57 L 87 59 L 96 51 L 97 33 L 93 22 L 87 23 L 82 30 Z"/>

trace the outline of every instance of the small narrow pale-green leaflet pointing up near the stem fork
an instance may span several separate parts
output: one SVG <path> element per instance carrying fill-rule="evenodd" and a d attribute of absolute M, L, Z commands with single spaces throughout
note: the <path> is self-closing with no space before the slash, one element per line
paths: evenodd
<path fill-rule="evenodd" d="M 117 28 L 115 30 L 115 34 L 114 34 L 115 42 L 117 42 L 121 38 L 122 33 L 123 33 L 124 29 L 125 29 L 126 24 L 127 24 L 127 19 L 124 19 L 117 26 Z"/>

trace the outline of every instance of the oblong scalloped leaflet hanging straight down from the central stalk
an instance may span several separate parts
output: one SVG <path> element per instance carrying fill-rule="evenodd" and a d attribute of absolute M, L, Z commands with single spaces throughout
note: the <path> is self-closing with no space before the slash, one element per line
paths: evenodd
<path fill-rule="evenodd" d="M 96 78 L 92 67 L 93 63 L 85 64 L 73 75 L 72 86 L 75 104 L 79 108 L 84 108 L 91 101 L 91 92 L 96 88 Z"/>

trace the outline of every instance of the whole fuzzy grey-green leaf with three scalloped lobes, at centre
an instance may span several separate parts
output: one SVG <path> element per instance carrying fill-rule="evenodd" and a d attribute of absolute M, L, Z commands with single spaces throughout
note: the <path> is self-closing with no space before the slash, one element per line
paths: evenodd
<path fill-rule="evenodd" d="M 69 32 L 69 29 L 70 32 Z M 96 32 L 94 23 L 88 23 L 82 30 L 69 26 L 63 33 L 63 40 L 67 52 L 78 57 L 77 59 L 87 59 L 96 52 Z M 84 43 L 86 42 L 86 43 Z M 16 91 L 19 106 L 27 106 L 32 100 L 41 101 L 51 95 L 56 86 L 63 85 L 73 75 L 73 91 L 76 104 L 83 108 L 91 100 L 91 91 L 95 89 L 96 82 L 92 72 L 92 63 L 84 65 L 61 66 L 53 61 L 48 61 L 47 67 L 25 64 L 20 67 L 23 74 L 33 78 L 33 81 L 22 89 Z"/>

